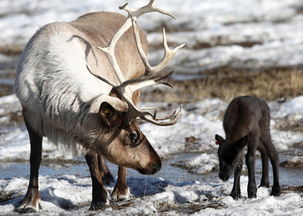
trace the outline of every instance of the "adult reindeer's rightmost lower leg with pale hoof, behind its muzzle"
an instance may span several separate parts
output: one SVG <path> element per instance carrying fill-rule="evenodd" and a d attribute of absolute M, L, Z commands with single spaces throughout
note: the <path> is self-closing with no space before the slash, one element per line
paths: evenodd
<path fill-rule="evenodd" d="M 129 188 L 126 182 L 127 168 L 119 166 L 118 179 L 112 193 L 112 198 L 115 200 L 124 200 L 130 197 Z"/>

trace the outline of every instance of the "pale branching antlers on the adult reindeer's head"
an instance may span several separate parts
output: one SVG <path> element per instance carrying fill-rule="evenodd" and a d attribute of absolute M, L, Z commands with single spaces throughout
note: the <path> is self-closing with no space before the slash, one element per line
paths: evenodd
<path fill-rule="evenodd" d="M 163 44 L 164 44 L 164 49 L 165 49 L 165 54 L 161 62 L 155 66 L 151 66 L 147 60 L 147 57 L 145 55 L 145 52 L 142 48 L 142 43 L 140 39 L 140 31 L 137 26 L 137 18 L 139 18 L 141 15 L 150 13 L 150 12 L 159 12 L 161 14 L 170 16 L 172 18 L 175 18 L 171 13 L 166 12 L 164 10 L 161 10 L 159 8 L 154 7 L 153 5 L 154 0 L 150 0 L 149 3 L 137 10 L 132 10 L 128 7 L 128 4 L 126 3 L 125 5 L 119 7 L 121 10 L 125 10 L 128 13 L 128 18 L 125 21 L 125 23 L 121 26 L 121 28 L 116 32 L 112 40 L 110 41 L 108 47 L 98 47 L 98 49 L 102 50 L 103 52 L 106 53 L 108 56 L 108 59 L 110 63 L 112 64 L 112 67 L 117 75 L 118 80 L 120 81 L 120 85 L 114 86 L 111 84 L 109 81 L 105 80 L 104 78 L 101 78 L 95 74 L 93 74 L 89 68 L 88 70 L 97 78 L 105 81 L 106 83 L 110 84 L 113 86 L 113 91 L 119 94 L 121 98 L 128 104 L 128 118 L 129 120 L 135 119 L 135 118 L 141 118 L 144 119 L 148 122 L 151 122 L 156 125 L 162 125 L 162 126 L 167 126 L 167 125 L 172 125 L 175 124 L 178 117 L 180 116 L 181 113 L 181 108 L 180 106 L 178 111 L 173 112 L 171 115 L 163 117 L 163 118 L 158 118 L 157 117 L 157 112 L 155 111 L 153 114 L 147 111 L 140 110 L 135 106 L 135 104 L 132 101 L 132 93 L 135 92 L 138 89 L 141 89 L 146 86 L 150 85 L 155 85 L 155 84 L 165 84 L 170 87 L 172 85 L 168 82 L 167 78 L 169 75 L 172 74 L 172 72 L 161 72 L 172 60 L 172 58 L 176 55 L 177 51 L 181 49 L 182 47 L 185 46 L 185 44 L 182 44 L 178 47 L 176 47 L 173 50 L 170 50 L 168 45 L 167 45 L 167 40 L 166 40 L 166 34 L 165 34 L 165 29 L 163 29 Z M 134 36 L 135 36 L 135 41 L 136 41 L 136 46 L 138 49 L 138 52 L 140 54 L 140 57 L 146 67 L 146 72 L 137 78 L 131 79 L 131 80 L 125 80 L 123 77 L 123 73 L 118 65 L 118 62 L 115 57 L 115 47 L 120 39 L 120 37 L 130 28 L 133 27 L 134 30 Z"/>

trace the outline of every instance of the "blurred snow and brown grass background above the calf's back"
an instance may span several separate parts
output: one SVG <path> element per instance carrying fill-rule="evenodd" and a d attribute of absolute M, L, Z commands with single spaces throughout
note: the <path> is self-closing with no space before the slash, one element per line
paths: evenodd
<path fill-rule="evenodd" d="M 124 3 L 1 0 L 0 96 L 13 92 L 18 57 L 40 27 L 55 21 L 68 22 L 92 11 L 119 12 L 118 6 Z M 132 7 L 142 3 L 129 1 Z M 162 27 L 167 29 L 170 46 L 186 43 L 170 65 L 175 71 L 176 88 L 158 94 L 157 100 L 229 100 L 243 94 L 277 99 L 302 94 L 303 1 L 165 0 L 156 5 L 171 11 L 177 19 L 161 14 L 140 18 L 150 42 L 150 61 L 162 57 Z"/>

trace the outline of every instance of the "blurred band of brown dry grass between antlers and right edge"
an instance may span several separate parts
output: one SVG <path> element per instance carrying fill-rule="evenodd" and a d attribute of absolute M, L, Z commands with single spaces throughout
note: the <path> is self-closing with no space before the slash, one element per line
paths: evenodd
<path fill-rule="evenodd" d="M 303 94 L 303 68 L 273 68 L 263 71 L 222 68 L 204 79 L 173 81 L 175 88 L 145 91 L 144 101 L 195 102 L 208 97 L 231 100 L 255 95 L 267 100 Z"/>

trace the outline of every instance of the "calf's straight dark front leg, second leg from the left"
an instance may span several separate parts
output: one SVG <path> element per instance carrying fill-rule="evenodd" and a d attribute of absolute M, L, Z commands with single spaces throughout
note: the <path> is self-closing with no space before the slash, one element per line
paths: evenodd
<path fill-rule="evenodd" d="M 248 136 L 248 149 L 246 155 L 246 165 L 248 170 L 248 186 L 247 193 L 249 198 L 255 198 L 257 196 L 257 187 L 255 180 L 255 153 L 256 146 L 258 145 L 259 138 L 255 135 Z"/>

